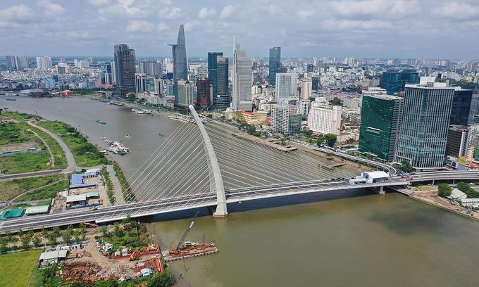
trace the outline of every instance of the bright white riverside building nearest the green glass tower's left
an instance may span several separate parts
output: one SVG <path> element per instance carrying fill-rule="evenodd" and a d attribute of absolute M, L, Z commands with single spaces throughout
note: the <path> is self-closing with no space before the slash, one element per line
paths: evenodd
<path fill-rule="evenodd" d="M 340 134 L 342 106 L 331 106 L 324 97 L 315 98 L 308 115 L 308 127 L 321 134 Z"/>

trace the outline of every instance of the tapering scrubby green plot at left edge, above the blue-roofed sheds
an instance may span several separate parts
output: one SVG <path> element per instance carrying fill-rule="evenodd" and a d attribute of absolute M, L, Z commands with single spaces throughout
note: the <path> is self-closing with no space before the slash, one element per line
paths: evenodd
<path fill-rule="evenodd" d="M 33 189 L 35 189 L 35 191 L 32 191 L 32 193 L 34 194 L 30 196 L 30 194 L 27 193 L 23 197 L 38 197 L 39 193 L 42 193 L 42 190 L 48 190 L 48 187 L 56 186 L 55 183 L 57 181 L 58 183 L 66 181 L 66 183 L 68 184 L 68 180 L 63 174 L 51 175 L 46 177 L 27 177 L 20 179 L 12 179 L 8 181 L 0 181 L 0 201 L 10 200 L 21 193 L 31 191 Z M 42 186 L 44 186 L 44 188 L 42 188 Z"/>

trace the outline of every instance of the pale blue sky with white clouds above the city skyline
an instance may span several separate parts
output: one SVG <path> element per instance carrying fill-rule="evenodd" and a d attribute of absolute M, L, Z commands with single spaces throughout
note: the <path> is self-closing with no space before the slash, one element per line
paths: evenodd
<path fill-rule="evenodd" d="M 479 0 L 1 0 L 0 55 L 479 58 Z"/>

